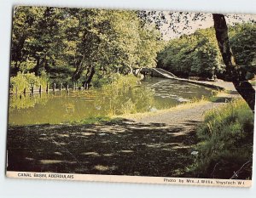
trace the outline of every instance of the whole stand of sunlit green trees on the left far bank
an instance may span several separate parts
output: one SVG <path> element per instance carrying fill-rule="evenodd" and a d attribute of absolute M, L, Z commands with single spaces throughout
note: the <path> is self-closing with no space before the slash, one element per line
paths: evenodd
<path fill-rule="evenodd" d="M 155 66 L 160 46 L 159 31 L 135 11 L 16 7 L 11 76 L 46 73 L 57 84 L 104 76 L 108 82 L 113 73 Z"/>

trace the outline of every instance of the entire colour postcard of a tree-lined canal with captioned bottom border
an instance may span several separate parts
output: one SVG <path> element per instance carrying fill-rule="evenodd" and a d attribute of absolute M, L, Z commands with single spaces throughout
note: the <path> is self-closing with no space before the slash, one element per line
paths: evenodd
<path fill-rule="evenodd" d="M 6 175 L 250 187 L 256 15 L 15 6 Z"/>

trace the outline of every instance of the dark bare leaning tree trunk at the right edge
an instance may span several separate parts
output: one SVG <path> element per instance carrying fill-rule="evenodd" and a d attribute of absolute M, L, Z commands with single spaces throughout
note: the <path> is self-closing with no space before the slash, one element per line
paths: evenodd
<path fill-rule="evenodd" d="M 230 40 L 228 35 L 228 26 L 224 18 L 224 14 L 212 14 L 214 21 L 214 29 L 218 41 L 218 48 L 226 65 L 226 80 L 233 82 L 236 91 L 245 99 L 247 105 L 253 110 L 255 105 L 255 90 L 249 83 L 241 71 L 241 67 L 236 65 L 235 57 L 230 48 Z"/>

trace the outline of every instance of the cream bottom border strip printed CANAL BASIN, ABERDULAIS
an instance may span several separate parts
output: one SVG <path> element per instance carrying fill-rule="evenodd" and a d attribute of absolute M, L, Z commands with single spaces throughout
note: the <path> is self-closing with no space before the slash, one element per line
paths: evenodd
<path fill-rule="evenodd" d="M 218 187 L 242 187 L 252 186 L 252 180 L 241 179 L 215 179 L 215 178 L 169 178 L 169 177 L 144 177 L 125 175 L 100 175 L 100 174 L 73 174 L 73 173 L 36 173 L 7 171 L 8 178 L 39 178 L 51 180 L 73 180 L 93 182 L 121 182 L 142 184 L 182 184 Z"/>

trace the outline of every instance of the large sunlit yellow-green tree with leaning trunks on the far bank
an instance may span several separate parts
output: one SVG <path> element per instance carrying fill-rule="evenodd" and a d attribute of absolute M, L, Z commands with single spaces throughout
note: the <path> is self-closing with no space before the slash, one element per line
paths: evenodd
<path fill-rule="evenodd" d="M 136 12 L 79 9 L 71 14 L 79 20 L 73 81 L 90 84 L 95 75 L 102 79 L 156 65 L 160 34 L 142 25 Z"/>

